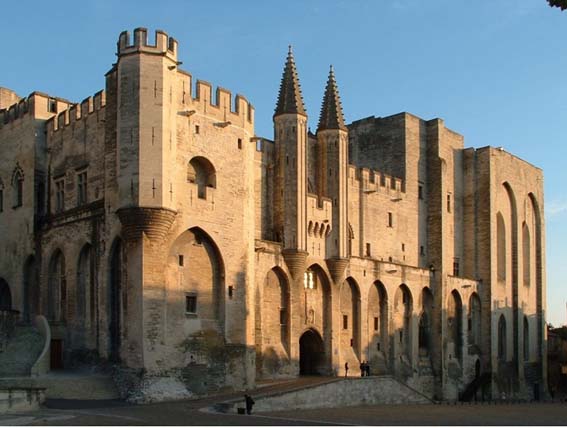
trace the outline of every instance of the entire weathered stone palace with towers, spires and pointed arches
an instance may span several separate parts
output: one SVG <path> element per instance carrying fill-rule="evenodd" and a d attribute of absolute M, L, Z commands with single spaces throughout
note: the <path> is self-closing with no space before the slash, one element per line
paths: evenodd
<path fill-rule="evenodd" d="M 0 88 L 0 295 L 49 318 L 52 365 L 201 394 L 369 361 L 439 399 L 546 392 L 540 169 L 441 119 L 346 124 L 332 69 L 311 133 L 291 49 L 273 140 L 179 66 L 138 28 L 81 103 Z"/>

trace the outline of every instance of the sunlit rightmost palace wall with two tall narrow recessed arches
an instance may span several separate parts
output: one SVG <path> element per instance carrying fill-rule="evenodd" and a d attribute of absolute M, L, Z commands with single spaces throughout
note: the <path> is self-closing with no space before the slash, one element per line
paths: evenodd
<path fill-rule="evenodd" d="M 545 350 L 543 176 L 541 170 L 504 150 L 485 150 L 490 157 L 493 195 L 490 214 L 492 363 L 498 366 L 501 361 L 513 361 L 511 369 L 519 379 L 512 385 L 501 382 L 497 385 L 499 390 L 533 396 L 534 388 L 545 387 L 546 373 L 545 358 L 541 354 Z M 499 348 L 499 338 L 502 338 L 499 332 L 503 330 L 499 328 L 501 316 L 505 323 L 505 349 Z M 532 343 L 537 343 L 535 348 Z M 538 367 L 538 377 L 529 374 L 530 365 Z M 526 377 L 531 378 L 527 384 L 523 382 Z M 534 386 L 536 382 L 538 385 Z"/>

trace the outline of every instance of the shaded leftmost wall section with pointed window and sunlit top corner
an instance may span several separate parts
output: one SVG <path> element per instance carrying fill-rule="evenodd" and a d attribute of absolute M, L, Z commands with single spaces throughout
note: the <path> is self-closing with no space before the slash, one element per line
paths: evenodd
<path fill-rule="evenodd" d="M 35 220 L 37 213 L 44 213 L 44 207 L 37 205 L 38 202 L 45 204 L 46 200 L 45 120 L 54 114 L 50 109 L 67 106 L 65 100 L 34 92 L 17 104 L 0 110 L 0 234 L 4 242 L 0 276 L 10 286 L 13 308 L 26 316 L 32 309 L 34 313 L 38 309 L 35 274 L 33 278 L 28 277 L 24 270 L 34 272 L 37 263 L 37 258 L 31 257 L 35 253 Z M 21 205 L 17 196 L 20 180 Z M 28 288 L 33 289 L 29 294 L 24 291 Z"/>

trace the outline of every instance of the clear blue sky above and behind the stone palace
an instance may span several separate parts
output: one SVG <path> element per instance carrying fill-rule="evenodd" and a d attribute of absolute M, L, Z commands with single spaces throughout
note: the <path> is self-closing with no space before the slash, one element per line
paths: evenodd
<path fill-rule="evenodd" d="M 333 64 L 348 121 L 441 117 L 466 146 L 503 146 L 545 173 L 548 320 L 567 322 L 567 11 L 545 0 L 10 1 L 0 86 L 81 101 L 104 87 L 118 34 L 163 29 L 182 68 L 244 94 L 257 134 L 294 46 L 314 129 Z"/>

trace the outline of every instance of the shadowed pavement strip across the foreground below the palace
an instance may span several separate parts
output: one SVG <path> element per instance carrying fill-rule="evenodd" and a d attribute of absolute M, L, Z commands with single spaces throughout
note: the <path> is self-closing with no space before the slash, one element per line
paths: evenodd
<path fill-rule="evenodd" d="M 567 404 L 394 405 L 272 412 L 203 411 L 212 401 L 128 406 L 67 403 L 67 408 L 0 416 L 0 425 L 565 425 Z M 95 407 L 93 407 L 95 406 Z"/>

